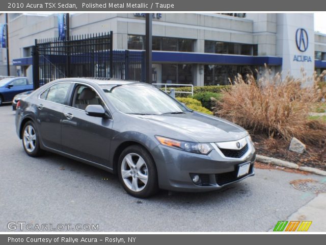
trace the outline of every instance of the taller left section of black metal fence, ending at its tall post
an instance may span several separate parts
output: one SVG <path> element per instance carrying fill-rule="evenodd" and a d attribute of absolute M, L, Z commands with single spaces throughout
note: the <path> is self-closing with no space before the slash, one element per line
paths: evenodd
<path fill-rule="evenodd" d="M 59 78 L 113 77 L 112 32 L 35 40 L 34 88 Z M 38 67 L 38 68 L 37 68 Z"/>

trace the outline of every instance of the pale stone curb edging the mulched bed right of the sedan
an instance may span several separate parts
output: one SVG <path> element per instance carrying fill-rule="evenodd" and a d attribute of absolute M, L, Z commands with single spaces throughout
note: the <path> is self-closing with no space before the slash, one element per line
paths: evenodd
<path fill-rule="evenodd" d="M 314 168 L 314 167 L 302 167 L 293 162 L 288 162 L 288 161 L 284 161 L 284 160 L 273 158 L 273 157 L 265 157 L 262 155 L 256 155 L 256 161 L 264 162 L 264 163 L 271 163 L 271 164 L 278 165 L 281 167 L 293 168 L 293 169 L 298 169 L 298 170 L 314 173 L 316 175 L 326 176 L 326 171 L 324 171 L 324 170 L 320 170 L 320 169 Z"/>

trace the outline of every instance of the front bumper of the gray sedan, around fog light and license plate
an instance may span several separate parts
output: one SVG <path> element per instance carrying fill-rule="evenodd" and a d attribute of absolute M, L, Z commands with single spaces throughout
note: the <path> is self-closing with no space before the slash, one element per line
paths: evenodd
<path fill-rule="evenodd" d="M 241 159 L 226 158 L 212 150 L 208 155 L 189 153 L 164 145 L 157 145 L 152 155 L 158 171 L 161 189 L 172 191 L 210 191 L 253 176 L 256 154 L 253 147 Z M 239 164 L 249 163 L 249 172 L 237 177 Z M 194 183 L 192 176 L 199 175 L 201 183 Z"/>

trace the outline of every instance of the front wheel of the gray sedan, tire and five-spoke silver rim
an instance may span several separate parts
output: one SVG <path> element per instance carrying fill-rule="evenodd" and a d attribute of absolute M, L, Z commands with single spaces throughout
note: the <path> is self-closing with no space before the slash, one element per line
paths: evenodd
<path fill-rule="evenodd" d="M 147 198 L 158 190 L 155 163 L 140 145 L 131 145 L 122 151 L 118 175 L 123 188 L 133 197 Z"/>

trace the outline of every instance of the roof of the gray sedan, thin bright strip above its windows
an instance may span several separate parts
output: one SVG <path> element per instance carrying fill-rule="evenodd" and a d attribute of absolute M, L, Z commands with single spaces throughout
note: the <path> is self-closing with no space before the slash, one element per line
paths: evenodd
<path fill-rule="evenodd" d="M 97 85 L 131 85 L 131 84 L 150 85 L 148 83 L 142 83 L 139 81 L 122 80 L 117 78 L 63 78 L 55 81 L 91 82 L 91 83 L 96 83 Z"/>

